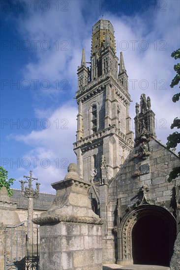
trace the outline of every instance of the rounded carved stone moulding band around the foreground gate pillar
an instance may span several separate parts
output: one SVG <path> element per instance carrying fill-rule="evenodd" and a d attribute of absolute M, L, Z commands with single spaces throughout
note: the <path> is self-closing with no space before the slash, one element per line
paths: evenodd
<path fill-rule="evenodd" d="M 60 223 L 60 222 L 104 224 L 106 220 L 101 219 L 99 217 L 88 217 L 88 216 L 49 215 L 33 218 L 32 222 L 39 225 Z"/>

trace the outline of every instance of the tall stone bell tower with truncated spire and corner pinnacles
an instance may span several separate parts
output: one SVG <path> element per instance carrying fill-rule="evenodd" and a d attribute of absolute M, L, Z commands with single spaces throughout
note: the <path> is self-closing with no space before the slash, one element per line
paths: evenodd
<path fill-rule="evenodd" d="M 90 62 L 86 62 L 83 49 L 77 74 L 74 152 L 78 173 L 84 181 L 102 184 L 116 175 L 134 145 L 128 76 L 122 53 L 120 63 L 116 55 L 114 28 L 109 20 L 100 19 L 93 26 Z"/>

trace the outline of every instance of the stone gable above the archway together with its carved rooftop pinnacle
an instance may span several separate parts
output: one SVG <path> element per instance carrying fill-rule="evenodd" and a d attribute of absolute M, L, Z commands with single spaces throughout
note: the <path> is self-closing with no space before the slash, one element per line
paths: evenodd
<path fill-rule="evenodd" d="M 173 212 L 175 183 L 167 179 L 173 167 L 178 166 L 178 156 L 156 139 L 154 112 L 150 98 L 141 95 L 136 103 L 135 146 L 109 187 L 109 194 L 116 193 L 121 205 L 137 207 L 143 203 L 163 205 Z M 180 180 L 177 179 L 178 183 Z M 180 183 L 179 183 L 180 184 Z M 116 189 L 116 190 L 115 190 Z"/>

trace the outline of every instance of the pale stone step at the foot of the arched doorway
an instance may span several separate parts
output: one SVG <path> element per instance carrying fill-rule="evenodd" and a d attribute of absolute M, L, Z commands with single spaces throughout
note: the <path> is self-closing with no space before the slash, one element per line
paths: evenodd
<path fill-rule="evenodd" d="M 121 265 L 103 265 L 103 270 L 170 270 L 169 267 L 164 267 L 164 266 L 155 266 L 155 265 L 126 265 L 126 266 L 121 266 Z"/>

